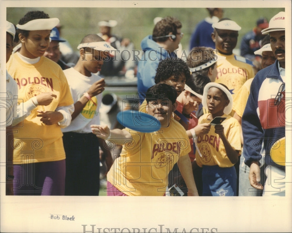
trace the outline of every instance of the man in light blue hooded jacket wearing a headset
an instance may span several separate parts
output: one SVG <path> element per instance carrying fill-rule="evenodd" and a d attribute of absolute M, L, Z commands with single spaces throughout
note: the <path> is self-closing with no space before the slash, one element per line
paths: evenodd
<path fill-rule="evenodd" d="M 177 57 L 175 50 L 183 38 L 181 28 L 182 24 L 177 18 L 167 16 L 155 24 L 152 35 L 142 40 L 144 54 L 138 62 L 137 70 L 138 95 L 141 101 L 145 99 L 147 89 L 155 84 L 158 63 L 168 57 Z"/>

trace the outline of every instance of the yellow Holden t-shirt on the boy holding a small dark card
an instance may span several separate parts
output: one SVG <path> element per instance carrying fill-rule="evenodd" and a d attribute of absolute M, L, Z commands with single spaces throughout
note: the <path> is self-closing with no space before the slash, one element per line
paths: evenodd
<path fill-rule="evenodd" d="M 199 118 L 198 124 L 210 123 L 210 120 L 207 120 L 209 113 L 202 115 Z M 241 141 L 240 141 L 240 130 L 239 123 L 236 119 L 230 115 L 223 115 L 227 117 L 221 124 L 224 127 L 224 134 L 229 141 L 230 145 L 234 150 L 241 151 Z M 230 162 L 227 157 L 226 150 L 222 140 L 219 135 L 215 133 L 215 127 L 211 126 L 211 129 L 208 134 L 197 137 L 197 148 L 199 149 L 202 157 L 199 155 L 198 150 L 196 150 L 196 160 L 197 164 L 202 167 L 202 165 L 214 166 L 218 165 L 219 167 L 232 167 L 234 164 Z"/>

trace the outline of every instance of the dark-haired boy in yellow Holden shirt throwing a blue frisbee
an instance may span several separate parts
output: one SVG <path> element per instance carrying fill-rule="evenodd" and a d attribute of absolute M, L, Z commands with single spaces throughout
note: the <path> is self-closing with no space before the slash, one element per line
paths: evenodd
<path fill-rule="evenodd" d="M 121 156 L 107 174 L 107 195 L 163 196 L 168 173 L 178 162 L 189 188 L 188 195 L 198 196 L 188 155 L 191 150 L 189 138 L 185 129 L 171 117 L 177 107 L 176 90 L 159 83 L 147 92 L 153 96 L 146 96 L 146 113 L 159 120 L 160 130 L 143 133 L 128 128 L 110 130 L 107 125 L 91 125 L 92 132 L 98 137 L 123 145 Z"/>

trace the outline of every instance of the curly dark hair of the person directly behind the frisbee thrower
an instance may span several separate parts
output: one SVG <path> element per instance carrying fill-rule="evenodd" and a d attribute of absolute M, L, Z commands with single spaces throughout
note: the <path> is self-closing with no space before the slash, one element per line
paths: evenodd
<path fill-rule="evenodd" d="M 159 62 L 154 81 L 161 83 L 171 76 L 178 78 L 182 74 L 185 74 L 186 80 L 190 78 L 190 69 L 187 64 L 180 58 L 167 58 Z"/>

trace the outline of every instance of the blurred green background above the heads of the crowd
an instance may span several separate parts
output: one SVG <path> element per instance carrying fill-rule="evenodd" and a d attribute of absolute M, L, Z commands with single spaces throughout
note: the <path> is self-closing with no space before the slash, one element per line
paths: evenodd
<path fill-rule="evenodd" d="M 179 2 L 179 1 L 178 1 Z M 241 38 L 246 32 L 256 26 L 259 17 L 271 17 L 285 8 L 223 8 L 223 17 L 234 20 L 241 26 L 237 47 L 240 47 Z M 183 49 L 188 50 L 189 39 L 196 24 L 208 16 L 206 8 L 7 8 L 7 20 L 17 24 L 21 17 L 30 10 L 43 10 L 51 18 L 57 17 L 62 25 L 61 36 L 69 41 L 77 51 L 81 39 L 90 33 L 98 33 L 97 23 L 101 20 L 117 20 L 118 25 L 112 29 L 112 34 L 130 38 L 135 48 L 140 50 L 141 40 L 152 34 L 153 19 L 157 16 L 174 16 L 183 24 L 185 34 L 181 40 Z"/>

